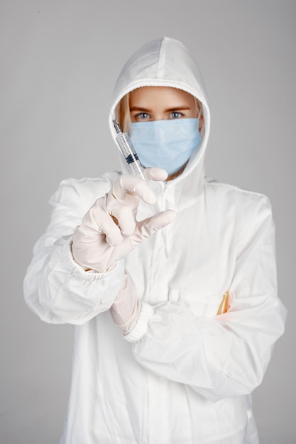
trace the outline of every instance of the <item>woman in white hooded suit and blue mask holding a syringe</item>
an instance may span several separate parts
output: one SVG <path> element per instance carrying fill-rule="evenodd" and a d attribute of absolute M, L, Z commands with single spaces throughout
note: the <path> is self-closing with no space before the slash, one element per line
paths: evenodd
<path fill-rule="evenodd" d="M 177 40 L 128 60 L 111 113 L 151 181 L 62 182 L 25 279 L 43 321 L 76 326 L 61 443 L 258 443 L 251 392 L 285 318 L 268 199 L 204 179 L 209 107 Z"/>

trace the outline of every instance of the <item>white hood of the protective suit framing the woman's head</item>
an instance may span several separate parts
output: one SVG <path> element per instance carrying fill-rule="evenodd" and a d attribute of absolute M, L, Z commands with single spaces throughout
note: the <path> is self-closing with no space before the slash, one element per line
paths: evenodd
<path fill-rule="evenodd" d="M 146 43 L 128 59 L 116 82 L 111 115 L 115 115 L 122 97 L 140 87 L 182 89 L 202 102 L 204 134 L 199 150 L 190 157 L 179 177 L 163 184 L 153 182 L 155 193 L 165 196 L 164 207 L 180 210 L 197 198 L 204 184 L 204 152 L 209 139 L 210 113 L 202 76 L 187 48 L 179 40 L 164 37 Z M 109 126 L 115 140 L 111 116 Z M 122 155 L 121 159 L 123 171 L 128 172 Z"/>

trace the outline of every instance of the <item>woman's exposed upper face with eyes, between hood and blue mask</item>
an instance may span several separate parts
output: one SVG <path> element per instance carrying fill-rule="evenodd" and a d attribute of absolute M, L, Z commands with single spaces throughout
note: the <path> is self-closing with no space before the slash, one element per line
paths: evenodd
<path fill-rule="evenodd" d="M 129 109 L 132 122 L 198 117 L 194 97 L 182 89 L 170 87 L 134 89 L 130 93 Z M 201 125 L 202 118 L 199 122 Z"/>

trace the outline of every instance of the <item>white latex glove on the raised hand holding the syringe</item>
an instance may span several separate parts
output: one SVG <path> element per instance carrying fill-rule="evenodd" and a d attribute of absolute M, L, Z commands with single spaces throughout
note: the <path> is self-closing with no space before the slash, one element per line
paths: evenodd
<path fill-rule="evenodd" d="M 161 168 L 147 168 L 146 175 L 158 181 L 168 176 Z M 136 245 L 175 219 L 175 211 L 167 210 L 138 222 L 140 199 L 147 204 L 156 200 L 145 180 L 123 174 L 110 192 L 94 202 L 72 238 L 72 255 L 84 270 L 110 270 Z"/>

